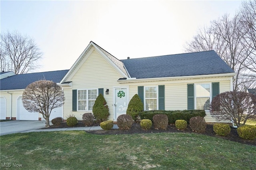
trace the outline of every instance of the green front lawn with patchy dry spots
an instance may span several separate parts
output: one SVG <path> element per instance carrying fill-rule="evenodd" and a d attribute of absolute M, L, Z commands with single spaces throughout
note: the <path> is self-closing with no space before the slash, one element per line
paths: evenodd
<path fill-rule="evenodd" d="M 256 146 L 190 133 L 31 132 L 1 136 L 0 146 L 8 170 L 256 169 Z"/>

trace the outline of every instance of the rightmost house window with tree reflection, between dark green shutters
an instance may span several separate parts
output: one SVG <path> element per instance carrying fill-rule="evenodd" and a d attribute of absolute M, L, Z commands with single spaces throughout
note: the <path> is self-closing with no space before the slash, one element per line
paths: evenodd
<path fill-rule="evenodd" d="M 210 107 L 210 84 L 197 84 L 195 89 L 196 109 L 209 110 Z"/>

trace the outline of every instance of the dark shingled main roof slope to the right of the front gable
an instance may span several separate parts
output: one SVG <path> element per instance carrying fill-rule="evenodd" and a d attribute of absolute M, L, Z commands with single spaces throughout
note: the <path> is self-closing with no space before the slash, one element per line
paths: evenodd
<path fill-rule="evenodd" d="M 136 79 L 234 73 L 213 50 L 121 61 Z"/>

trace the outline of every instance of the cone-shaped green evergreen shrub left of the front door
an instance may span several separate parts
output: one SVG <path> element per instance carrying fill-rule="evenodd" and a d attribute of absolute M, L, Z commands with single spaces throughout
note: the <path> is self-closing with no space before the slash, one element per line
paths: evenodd
<path fill-rule="evenodd" d="M 97 121 L 106 121 L 108 119 L 108 105 L 102 94 L 98 95 L 92 107 L 92 112 Z"/>

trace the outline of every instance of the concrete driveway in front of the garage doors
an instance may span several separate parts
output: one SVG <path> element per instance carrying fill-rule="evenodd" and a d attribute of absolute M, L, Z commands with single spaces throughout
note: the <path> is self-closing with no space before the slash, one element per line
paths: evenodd
<path fill-rule="evenodd" d="M 50 123 L 51 125 L 51 123 Z M 45 121 L 6 121 L 0 122 L 0 135 L 22 133 L 45 127 Z"/>

